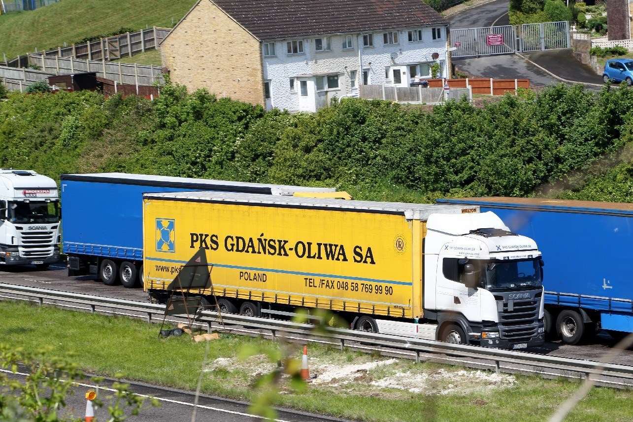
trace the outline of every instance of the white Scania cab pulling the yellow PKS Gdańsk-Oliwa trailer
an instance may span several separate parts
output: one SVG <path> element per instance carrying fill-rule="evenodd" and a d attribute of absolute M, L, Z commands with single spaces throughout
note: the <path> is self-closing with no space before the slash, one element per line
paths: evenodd
<path fill-rule="evenodd" d="M 424 317 L 436 321 L 436 338 L 515 349 L 543 343 L 543 261 L 534 240 L 492 212 L 432 214 L 424 253 Z"/>

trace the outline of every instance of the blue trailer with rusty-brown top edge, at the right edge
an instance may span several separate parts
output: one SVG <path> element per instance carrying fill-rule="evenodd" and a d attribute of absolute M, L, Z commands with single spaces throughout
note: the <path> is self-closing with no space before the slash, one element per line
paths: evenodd
<path fill-rule="evenodd" d="M 545 198 L 463 198 L 534 239 L 546 262 L 545 328 L 567 344 L 598 329 L 633 332 L 633 204 Z"/>

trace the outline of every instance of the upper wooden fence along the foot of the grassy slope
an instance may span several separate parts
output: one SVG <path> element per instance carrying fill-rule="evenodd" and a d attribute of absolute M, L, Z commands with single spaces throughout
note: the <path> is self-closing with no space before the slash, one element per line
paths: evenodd
<path fill-rule="evenodd" d="M 141 29 L 137 32 L 126 32 L 125 34 L 114 35 L 113 37 L 102 38 L 97 41 L 84 42 L 83 44 L 73 44 L 72 46 L 58 47 L 46 51 L 36 51 L 35 53 L 18 56 L 13 60 L 8 60 L 3 55 L 3 62 L 10 67 L 26 67 L 29 64 L 40 65 L 37 60 L 31 61 L 34 56 L 43 57 L 63 57 L 79 60 L 99 60 L 111 61 L 122 57 L 131 57 L 137 53 L 144 53 L 146 50 L 156 49 L 163 39 L 169 34 L 169 28 L 149 28 Z"/>

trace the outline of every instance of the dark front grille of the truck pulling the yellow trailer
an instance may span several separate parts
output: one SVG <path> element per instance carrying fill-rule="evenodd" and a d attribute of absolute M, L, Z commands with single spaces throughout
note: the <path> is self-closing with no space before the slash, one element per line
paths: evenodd
<path fill-rule="evenodd" d="M 527 341 L 536 335 L 539 319 L 539 300 L 515 300 L 499 305 L 499 331 L 501 338 L 512 342 Z M 503 300 L 503 298 L 501 298 Z M 502 305 L 503 304 L 503 305 Z M 510 306 L 510 304 L 512 304 Z M 503 310 L 501 307 L 503 306 Z"/>

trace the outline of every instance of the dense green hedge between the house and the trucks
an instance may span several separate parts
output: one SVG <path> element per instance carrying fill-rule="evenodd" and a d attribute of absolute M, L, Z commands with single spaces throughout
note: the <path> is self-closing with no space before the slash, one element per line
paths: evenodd
<path fill-rule="evenodd" d="M 153 103 L 96 93 L 11 94 L 0 103 L 0 166 L 122 171 L 335 186 L 356 198 L 530 195 L 616 151 L 633 128 L 633 90 L 549 87 L 432 112 L 344 99 L 315 114 L 187 94 Z"/>

